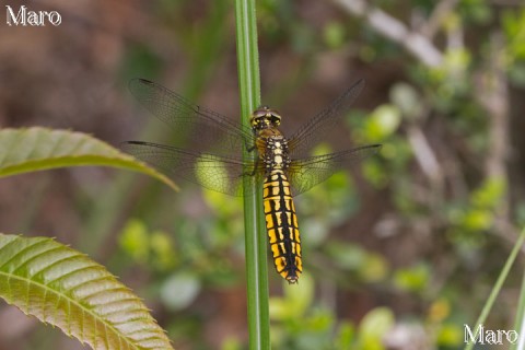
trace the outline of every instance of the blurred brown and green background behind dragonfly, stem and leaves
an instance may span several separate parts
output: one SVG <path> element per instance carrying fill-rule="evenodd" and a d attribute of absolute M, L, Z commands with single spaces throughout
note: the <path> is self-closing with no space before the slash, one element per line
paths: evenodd
<path fill-rule="evenodd" d="M 1 16 L 2 128 L 168 138 L 132 78 L 238 120 L 231 0 L 1 2 L 62 18 Z M 269 267 L 273 348 L 462 348 L 525 224 L 525 4 L 260 0 L 257 16 L 262 102 L 284 131 L 365 79 L 347 128 L 316 152 L 384 144 L 296 198 L 305 273 L 288 285 Z M 103 167 L 2 178 L 0 231 L 107 266 L 176 349 L 245 349 L 242 200 L 178 185 Z M 513 327 L 517 262 L 487 328 Z M 82 347 L 2 302 L 0 349 Z"/>

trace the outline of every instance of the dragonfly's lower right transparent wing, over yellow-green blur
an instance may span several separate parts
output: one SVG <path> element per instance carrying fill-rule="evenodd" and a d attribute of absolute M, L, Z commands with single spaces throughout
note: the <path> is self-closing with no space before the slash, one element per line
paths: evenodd
<path fill-rule="evenodd" d="M 288 170 L 293 195 L 302 194 L 326 180 L 335 172 L 380 151 L 381 144 L 370 144 L 336 153 L 292 160 Z"/>

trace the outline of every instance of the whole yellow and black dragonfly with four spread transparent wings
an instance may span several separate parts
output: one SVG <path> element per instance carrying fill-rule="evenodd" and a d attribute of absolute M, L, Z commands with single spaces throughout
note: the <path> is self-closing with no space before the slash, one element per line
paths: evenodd
<path fill-rule="evenodd" d="M 273 264 L 289 283 L 303 272 L 301 237 L 293 196 L 326 180 L 334 173 L 375 154 L 381 144 L 312 155 L 312 149 L 343 121 L 361 93 L 359 80 L 331 105 L 287 138 L 281 115 L 268 106 L 250 116 L 250 127 L 198 106 L 168 89 L 144 79 L 129 83 L 139 103 L 170 126 L 172 144 L 126 141 L 125 151 L 171 178 L 183 178 L 233 196 L 250 196 L 243 182 L 253 178 L 260 190 Z M 243 156 L 247 153 L 248 156 Z"/>

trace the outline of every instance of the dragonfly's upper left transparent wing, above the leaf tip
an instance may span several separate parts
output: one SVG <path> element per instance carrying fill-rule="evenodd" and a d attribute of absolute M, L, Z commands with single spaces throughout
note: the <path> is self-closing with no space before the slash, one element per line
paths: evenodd
<path fill-rule="evenodd" d="M 171 127 L 174 147 L 241 158 L 243 148 L 254 144 L 249 128 L 197 106 L 154 82 L 133 79 L 129 90 L 149 112 Z"/>

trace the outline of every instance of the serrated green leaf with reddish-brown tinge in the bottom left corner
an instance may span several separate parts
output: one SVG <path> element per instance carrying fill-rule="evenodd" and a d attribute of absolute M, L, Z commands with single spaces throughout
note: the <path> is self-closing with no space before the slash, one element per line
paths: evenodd
<path fill-rule="evenodd" d="M 173 349 L 144 304 L 88 256 L 0 234 L 0 298 L 93 349 Z"/>

